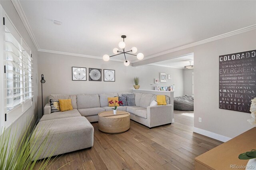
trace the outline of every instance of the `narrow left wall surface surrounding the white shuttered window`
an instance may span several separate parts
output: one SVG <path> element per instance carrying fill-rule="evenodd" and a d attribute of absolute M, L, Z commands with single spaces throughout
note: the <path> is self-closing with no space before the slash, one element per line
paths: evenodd
<path fill-rule="evenodd" d="M 32 56 L 33 56 L 33 69 L 32 69 L 32 76 L 33 76 L 33 106 L 28 109 L 15 123 L 12 125 L 12 130 L 16 130 L 17 128 L 17 134 L 22 134 L 22 129 L 24 127 L 26 128 L 26 125 L 28 125 L 28 122 L 31 121 L 31 119 L 35 119 L 38 115 L 38 104 L 37 104 L 37 95 L 38 95 L 38 82 L 37 82 L 37 73 L 38 73 L 38 57 L 37 57 L 37 50 L 34 47 L 34 44 L 32 43 L 32 40 L 30 39 L 30 36 L 28 35 L 28 32 L 26 31 L 26 28 L 24 27 L 22 21 L 20 20 L 20 17 L 18 16 L 18 13 L 16 12 L 12 2 L 10 0 L 1 0 L 0 4 L 4 8 L 7 15 L 10 17 L 11 21 L 14 23 L 15 27 L 18 29 L 18 32 L 21 34 L 24 41 L 28 44 L 30 49 L 32 50 Z M 2 18 L 1 18 L 2 21 Z M 2 24 L 2 22 L 1 22 Z M 18 137 L 18 136 L 16 136 Z"/>

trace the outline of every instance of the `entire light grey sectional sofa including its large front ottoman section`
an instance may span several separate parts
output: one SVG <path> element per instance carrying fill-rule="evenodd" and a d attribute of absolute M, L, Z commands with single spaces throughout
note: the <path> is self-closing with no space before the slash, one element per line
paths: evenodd
<path fill-rule="evenodd" d="M 48 97 L 49 103 L 44 107 L 44 115 L 34 130 L 35 139 L 32 140 L 31 152 L 38 152 L 43 145 L 42 154 L 33 157 L 39 160 L 50 156 L 59 155 L 93 146 L 94 128 L 91 122 L 98 121 L 98 113 L 111 111 L 108 107 L 108 97 L 121 96 L 124 93 L 104 94 L 79 94 L 58 95 L 52 94 Z M 129 93 L 125 93 L 129 94 Z M 156 95 L 146 93 L 134 93 L 134 106 L 119 106 L 118 110 L 130 113 L 130 119 L 141 123 L 149 128 L 172 123 L 172 105 L 150 106 Z M 51 113 L 50 99 L 71 99 L 73 110 Z M 166 103 L 169 103 L 166 97 Z M 40 133 L 44 130 L 43 133 Z M 44 142 L 47 138 L 50 140 Z M 47 146 L 47 147 L 46 147 Z M 33 155 L 33 154 L 31 154 Z"/>

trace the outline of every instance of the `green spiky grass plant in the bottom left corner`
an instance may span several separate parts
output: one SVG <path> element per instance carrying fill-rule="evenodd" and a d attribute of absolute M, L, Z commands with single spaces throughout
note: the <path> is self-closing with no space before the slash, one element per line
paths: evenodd
<path fill-rule="evenodd" d="M 31 125 L 31 121 L 29 125 Z M 11 134 L 13 127 L 1 130 L 0 170 L 33 170 L 35 167 L 40 170 L 49 169 L 51 164 L 56 161 L 56 156 L 54 159 L 50 160 L 56 147 L 50 148 L 48 153 L 45 152 L 45 148 L 49 147 L 50 140 L 52 139 L 49 127 L 45 129 L 34 127 L 35 125 L 32 126 L 32 128 L 28 126 L 22 129 L 21 134 L 17 134 L 17 128 L 14 130 L 14 133 Z M 36 131 L 33 132 L 33 129 Z M 37 134 L 37 136 L 44 134 L 44 137 L 36 137 L 35 134 Z M 18 139 L 16 135 L 20 135 Z M 36 160 L 41 154 L 48 155 L 49 157 L 37 163 Z M 33 161 L 33 158 L 35 161 Z"/>

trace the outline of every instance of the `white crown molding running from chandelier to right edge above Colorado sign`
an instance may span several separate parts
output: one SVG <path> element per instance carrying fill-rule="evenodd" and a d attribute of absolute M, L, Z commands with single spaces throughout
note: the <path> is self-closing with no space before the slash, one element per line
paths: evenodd
<path fill-rule="evenodd" d="M 234 36 L 234 35 L 236 35 L 236 34 L 241 34 L 241 33 L 244 33 L 244 32 L 251 31 L 251 30 L 255 30 L 255 29 L 256 29 L 256 24 L 255 24 L 255 25 L 252 25 L 252 26 L 245 27 L 245 28 L 241 28 L 241 29 L 239 29 L 239 30 L 235 30 L 235 31 L 232 31 L 232 32 L 228 32 L 228 33 L 225 33 L 225 34 L 221 34 L 221 35 L 219 35 L 219 36 L 215 36 L 215 37 L 212 37 L 212 38 L 208 38 L 208 39 L 205 39 L 205 40 L 202 40 L 202 41 L 199 41 L 199 42 L 195 42 L 195 43 L 191 43 L 191 44 L 188 44 L 188 45 L 184 45 L 184 46 L 181 46 L 181 47 L 178 47 L 178 48 L 170 49 L 170 50 L 164 51 L 164 52 L 162 52 L 162 53 L 157 53 L 157 54 L 154 54 L 154 55 L 150 55 L 150 56 L 148 56 L 148 57 L 145 57 L 145 59 L 150 59 L 150 58 L 158 57 L 158 56 L 160 56 L 160 55 L 172 53 L 172 52 L 174 52 L 174 51 L 179 51 L 179 50 L 182 50 L 182 49 L 194 47 L 194 46 L 196 46 L 196 45 L 201 45 L 201 44 L 208 43 L 208 42 L 213 42 L 213 41 L 216 41 L 216 40 L 220 40 L 220 39 L 222 39 L 222 38 L 227 38 L 227 37 L 230 37 L 230 36 Z M 139 62 L 139 61 L 137 61 L 137 62 Z"/>

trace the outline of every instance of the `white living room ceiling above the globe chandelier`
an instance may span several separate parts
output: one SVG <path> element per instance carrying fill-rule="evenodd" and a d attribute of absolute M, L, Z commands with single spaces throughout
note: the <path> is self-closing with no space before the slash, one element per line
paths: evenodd
<path fill-rule="evenodd" d="M 127 36 L 126 50 L 135 46 L 146 58 L 256 24 L 256 1 L 20 0 L 20 5 L 41 50 L 96 57 L 114 55 L 121 35 Z M 128 60 L 137 61 L 132 55 Z"/>

